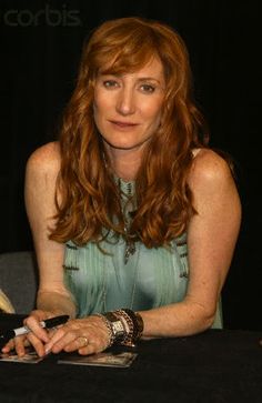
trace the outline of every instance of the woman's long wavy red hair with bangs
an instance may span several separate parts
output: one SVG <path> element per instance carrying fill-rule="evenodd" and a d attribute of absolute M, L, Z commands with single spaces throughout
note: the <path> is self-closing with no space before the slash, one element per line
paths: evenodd
<path fill-rule="evenodd" d="M 119 189 L 104 164 L 103 143 L 93 120 L 94 84 L 104 66 L 111 73 L 135 71 L 152 57 L 159 58 L 164 70 L 162 124 L 144 150 L 135 179 L 138 209 L 130 235 L 157 248 L 187 230 L 195 212 L 187 182 L 192 150 L 208 144 L 204 120 L 192 99 L 188 51 L 169 26 L 123 18 L 102 23 L 83 47 L 61 128 L 52 240 L 83 245 L 99 243 L 110 230 L 123 234 Z"/>

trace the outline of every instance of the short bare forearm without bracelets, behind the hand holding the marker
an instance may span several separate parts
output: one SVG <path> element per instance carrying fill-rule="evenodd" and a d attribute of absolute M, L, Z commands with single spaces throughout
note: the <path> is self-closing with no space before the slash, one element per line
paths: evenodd
<path fill-rule="evenodd" d="M 37 299 L 37 309 L 49 311 L 56 314 L 68 314 L 75 318 L 75 304 L 70 295 L 66 295 L 54 291 L 39 291 Z"/>

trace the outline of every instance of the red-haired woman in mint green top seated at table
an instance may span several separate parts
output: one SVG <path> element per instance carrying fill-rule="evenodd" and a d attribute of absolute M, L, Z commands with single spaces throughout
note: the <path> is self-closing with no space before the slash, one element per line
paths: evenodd
<path fill-rule="evenodd" d="M 190 79 L 183 41 L 157 21 L 108 21 L 84 47 L 60 141 L 27 167 L 40 269 L 27 342 L 39 355 L 221 326 L 241 208 Z M 41 329 L 59 314 L 71 320 Z"/>

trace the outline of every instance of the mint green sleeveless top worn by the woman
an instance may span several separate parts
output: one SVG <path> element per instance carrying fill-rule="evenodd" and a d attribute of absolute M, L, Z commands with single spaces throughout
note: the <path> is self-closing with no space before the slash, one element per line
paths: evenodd
<path fill-rule="evenodd" d="M 119 184 L 124 195 L 134 190 L 133 182 L 119 180 Z M 187 234 L 177 238 L 170 248 L 148 249 L 135 242 L 135 252 L 127 263 L 124 252 L 125 241 L 113 234 L 99 246 L 93 242 L 83 246 L 67 242 L 64 282 L 78 318 L 121 308 L 150 310 L 184 299 L 190 275 Z M 212 328 L 222 328 L 220 303 Z"/>

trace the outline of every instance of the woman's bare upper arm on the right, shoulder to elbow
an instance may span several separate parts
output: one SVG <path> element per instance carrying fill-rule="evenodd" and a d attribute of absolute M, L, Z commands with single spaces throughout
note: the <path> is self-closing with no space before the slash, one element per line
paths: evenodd
<path fill-rule="evenodd" d="M 241 221 L 239 194 L 228 163 L 211 150 L 194 158 L 189 177 L 196 213 L 188 228 L 187 299 L 212 316 L 232 260 Z"/>

